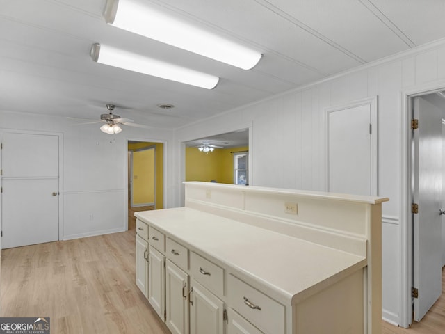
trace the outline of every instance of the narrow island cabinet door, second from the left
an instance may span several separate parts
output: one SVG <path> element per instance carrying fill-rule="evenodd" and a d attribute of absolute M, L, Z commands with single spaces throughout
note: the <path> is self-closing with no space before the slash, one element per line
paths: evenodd
<path fill-rule="evenodd" d="M 165 321 L 165 256 L 152 246 L 148 249 L 148 301 L 159 317 Z"/>

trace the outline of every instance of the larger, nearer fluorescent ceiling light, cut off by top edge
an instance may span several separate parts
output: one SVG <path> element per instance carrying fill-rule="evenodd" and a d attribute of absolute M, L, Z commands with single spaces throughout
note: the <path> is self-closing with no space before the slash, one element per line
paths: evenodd
<path fill-rule="evenodd" d="M 261 59 L 262 55 L 257 51 L 197 29 L 141 2 L 108 0 L 104 10 L 105 22 L 243 70 L 250 70 Z"/>

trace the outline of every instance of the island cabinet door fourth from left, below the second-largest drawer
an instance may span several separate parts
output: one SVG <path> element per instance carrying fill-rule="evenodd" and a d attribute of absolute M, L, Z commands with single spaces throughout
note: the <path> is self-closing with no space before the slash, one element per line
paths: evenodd
<path fill-rule="evenodd" d="M 224 302 L 192 280 L 191 334 L 224 334 Z"/>

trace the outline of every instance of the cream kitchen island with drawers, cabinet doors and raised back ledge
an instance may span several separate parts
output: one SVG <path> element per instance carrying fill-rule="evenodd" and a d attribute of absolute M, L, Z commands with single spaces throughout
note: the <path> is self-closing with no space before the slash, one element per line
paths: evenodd
<path fill-rule="evenodd" d="M 172 333 L 380 334 L 387 198 L 185 187 L 135 214 L 136 282 Z"/>

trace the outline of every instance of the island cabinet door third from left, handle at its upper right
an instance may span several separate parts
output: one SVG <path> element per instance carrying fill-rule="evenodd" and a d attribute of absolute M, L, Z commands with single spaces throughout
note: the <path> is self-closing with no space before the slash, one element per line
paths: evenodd
<path fill-rule="evenodd" d="M 165 263 L 165 324 L 172 334 L 188 334 L 188 275 L 170 260 Z"/>

